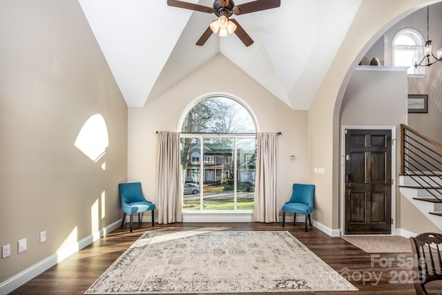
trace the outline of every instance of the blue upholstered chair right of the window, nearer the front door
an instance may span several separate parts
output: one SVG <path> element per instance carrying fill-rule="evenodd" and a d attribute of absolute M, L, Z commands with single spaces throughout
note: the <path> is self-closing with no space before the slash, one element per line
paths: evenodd
<path fill-rule="evenodd" d="M 313 200 L 315 195 L 314 184 L 293 184 L 293 190 L 289 202 L 282 206 L 282 227 L 285 227 L 285 212 L 295 214 L 293 224 L 295 225 L 296 213 L 305 215 L 305 232 L 307 232 L 307 218 L 311 226 L 310 213 L 313 211 Z"/>

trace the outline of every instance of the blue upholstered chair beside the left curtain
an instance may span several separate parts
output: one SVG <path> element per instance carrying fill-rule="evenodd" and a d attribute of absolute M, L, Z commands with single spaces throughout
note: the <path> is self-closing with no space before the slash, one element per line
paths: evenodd
<path fill-rule="evenodd" d="M 141 182 L 120 183 L 118 184 L 119 197 L 122 199 L 123 220 L 126 220 L 126 214 L 131 216 L 131 232 L 133 230 L 133 214 L 138 213 L 138 225 L 141 224 L 141 212 L 152 210 L 152 226 L 155 225 L 155 204 L 149 202 L 143 196 Z"/>

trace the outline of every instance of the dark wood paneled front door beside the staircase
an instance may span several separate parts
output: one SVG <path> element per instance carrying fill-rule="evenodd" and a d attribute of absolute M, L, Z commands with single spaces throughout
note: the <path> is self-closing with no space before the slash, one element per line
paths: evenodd
<path fill-rule="evenodd" d="M 345 234 L 391 234 L 392 131 L 345 131 Z"/>

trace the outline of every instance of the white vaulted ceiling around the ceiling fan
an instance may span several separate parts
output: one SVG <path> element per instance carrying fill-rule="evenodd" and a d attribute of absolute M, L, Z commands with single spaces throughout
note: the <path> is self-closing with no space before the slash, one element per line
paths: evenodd
<path fill-rule="evenodd" d="M 129 107 L 144 106 L 222 54 L 291 108 L 307 110 L 361 0 L 281 0 L 280 8 L 235 16 L 254 41 L 249 47 L 236 35 L 215 34 L 196 46 L 215 15 L 167 6 L 166 0 L 79 3 Z"/>

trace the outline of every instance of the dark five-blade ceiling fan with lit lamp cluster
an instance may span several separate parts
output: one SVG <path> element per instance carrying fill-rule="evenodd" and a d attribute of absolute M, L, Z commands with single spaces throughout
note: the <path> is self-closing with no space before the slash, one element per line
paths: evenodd
<path fill-rule="evenodd" d="M 256 12 L 260 10 L 267 10 L 277 8 L 281 4 L 280 0 L 256 0 L 240 5 L 235 5 L 233 0 L 215 0 L 213 1 L 213 8 L 209 6 L 202 6 L 178 0 L 167 0 L 167 5 L 178 8 L 185 8 L 200 12 L 214 13 L 218 19 L 213 21 L 209 28 L 207 28 L 196 45 L 203 46 L 204 43 L 211 37 L 213 32 L 220 32 L 220 36 L 227 36 L 235 32 L 245 46 L 251 46 L 253 40 L 247 32 L 240 26 L 236 19 L 229 19 L 231 15 L 245 15 L 246 13 Z"/>

